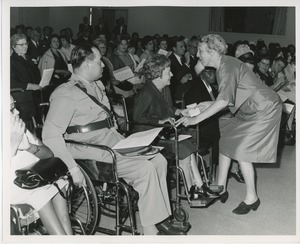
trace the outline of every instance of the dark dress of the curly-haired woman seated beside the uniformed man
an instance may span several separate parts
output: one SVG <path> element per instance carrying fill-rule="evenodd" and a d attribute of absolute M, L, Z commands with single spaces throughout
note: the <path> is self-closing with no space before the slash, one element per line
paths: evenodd
<path fill-rule="evenodd" d="M 152 82 L 147 82 L 136 95 L 133 107 L 133 120 L 139 123 L 158 124 L 159 120 L 175 117 L 176 108 L 173 107 L 169 87 L 165 87 L 161 93 Z M 153 128 L 148 125 L 135 125 L 135 131 L 144 131 Z M 173 143 L 160 140 L 158 145 L 166 151 L 172 151 Z M 184 159 L 197 150 L 191 140 L 179 142 L 179 159 Z"/>

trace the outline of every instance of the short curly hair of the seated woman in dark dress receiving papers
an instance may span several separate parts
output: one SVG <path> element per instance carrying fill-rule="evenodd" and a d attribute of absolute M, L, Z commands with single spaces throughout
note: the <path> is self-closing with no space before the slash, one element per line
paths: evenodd
<path fill-rule="evenodd" d="M 162 76 L 166 67 L 170 67 L 170 60 L 164 55 L 153 55 L 146 59 L 141 74 L 145 76 L 147 82 Z"/>

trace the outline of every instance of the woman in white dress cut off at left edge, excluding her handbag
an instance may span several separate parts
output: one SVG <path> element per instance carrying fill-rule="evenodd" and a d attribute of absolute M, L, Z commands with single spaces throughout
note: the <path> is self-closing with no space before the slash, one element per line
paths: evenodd
<path fill-rule="evenodd" d="M 10 157 L 11 179 L 15 178 L 15 170 L 29 166 L 39 159 L 53 157 L 51 150 L 25 128 L 19 111 L 10 97 Z M 65 193 L 67 182 L 57 181 L 59 188 Z M 11 204 L 31 205 L 39 214 L 41 221 L 50 235 L 73 235 L 66 200 L 58 194 L 54 185 L 25 190 L 11 183 Z"/>

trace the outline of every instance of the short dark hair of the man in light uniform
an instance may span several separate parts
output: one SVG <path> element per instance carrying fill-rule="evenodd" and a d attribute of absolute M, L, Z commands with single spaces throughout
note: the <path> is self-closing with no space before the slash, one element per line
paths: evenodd
<path fill-rule="evenodd" d="M 95 54 L 92 48 L 97 48 L 90 43 L 81 43 L 77 45 L 71 52 L 71 64 L 73 69 L 79 68 L 86 60 L 94 60 Z M 97 48 L 98 49 L 98 48 Z"/>

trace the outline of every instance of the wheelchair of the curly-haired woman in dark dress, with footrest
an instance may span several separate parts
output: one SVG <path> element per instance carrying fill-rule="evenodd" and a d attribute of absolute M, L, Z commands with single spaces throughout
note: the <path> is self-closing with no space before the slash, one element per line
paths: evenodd
<path fill-rule="evenodd" d="M 122 129 L 124 130 L 125 133 L 130 134 L 132 131 L 132 126 L 134 124 L 141 125 L 141 123 L 133 122 L 132 111 L 130 110 L 130 108 L 133 107 L 133 99 L 132 98 L 125 99 L 124 97 L 121 97 L 120 101 L 117 104 L 116 103 L 113 104 L 113 106 L 112 106 L 113 109 L 114 109 L 115 105 L 118 105 L 117 116 L 119 116 L 119 117 L 123 116 L 124 121 L 122 123 L 122 126 L 123 126 Z M 121 115 L 119 112 L 119 106 L 121 106 L 123 108 Z M 150 125 L 150 124 L 147 124 L 147 125 Z M 162 151 L 162 154 L 170 162 L 167 180 L 169 183 L 169 190 L 171 191 L 172 188 L 175 188 L 175 197 L 171 198 L 171 202 L 174 205 L 173 217 L 175 219 L 175 224 L 180 225 L 182 223 L 187 222 L 187 220 L 189 218 L 188 212 L 182 207 L 181 199 L 187 200 L 188 204 L 191 208 L 207 207 L 211 203 L 214 202 L 214 199 L 199 199 L 197 201 L 190 200 L 189 189 L 187 187 L 185 175 L 184 175 L 182 168 L 179 166 L 179 157 L 178 157 L 178 154 L 179 154 L 179 151 L 178 151 L 179 130 L 175 126 L 166 125 L 166 124 L 164 124 L 164 125 L 151 124 L 150 126 L 164 127 L 164 129 L 171 129 L 174 132 L 173 145 L 170 148 L 165 148 L 165 150 Z M 199 133 L 197 133 L 197 132 L 198 132 L 198 130 L 196 129 L 196 132 L 195 132 L 195 135 L 197 138 L 196 143 L 199 142 L 199 138 L 198 138 Z M 199 143 L 197 145 L 199 145 Z M 172 151 L 174 153 L 168 153 L 168 151 Z M 198 150 L 196 152 L 197 163 L 198 163 L 198 166 L 200 166 L 199 163 L 201 163 L 200 170 L 204 174 L 204 178 L 205 178 L 204 183 L 207 184 L 214 191 L 221 191 L 221 189 L 219 189 L 217 186 L 214 186 L 211 184 L 211 182 L 214 178 L 213 164 L 212 164 L 211 160 L 210 160 L 211 170 L 210 170 L 209 177 L 206 174 L 206 167 L 205 167 L 205 162 L 204 162 L 203 156 L 208 153 L 209 153 L 209 155 L 211 155 L 210 152 L 211 151 L 209 151 L 207 148 L 206 149 L 202 148 L 202 150 Z M 182 192 L 182 187 L 184 189 L 183 192 Z M 172 194 L 170 194 L 170 195 L 172 195 Z"/>

